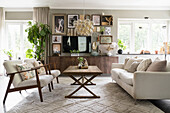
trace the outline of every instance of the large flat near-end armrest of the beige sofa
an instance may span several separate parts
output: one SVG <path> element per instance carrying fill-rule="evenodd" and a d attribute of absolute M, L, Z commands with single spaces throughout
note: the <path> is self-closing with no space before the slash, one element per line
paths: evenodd
<path fill-rule="evenodd" d="M 135 72 L 133 79 L 134 98 L 170 98 L 170 72 Z"/>

